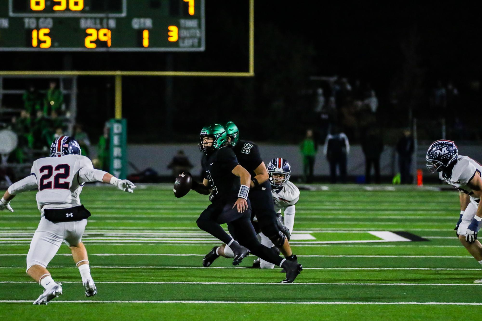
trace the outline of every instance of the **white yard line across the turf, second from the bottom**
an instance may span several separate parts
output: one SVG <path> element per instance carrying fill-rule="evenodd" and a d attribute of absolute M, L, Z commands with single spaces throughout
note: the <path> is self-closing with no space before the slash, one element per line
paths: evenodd
<path fill-rule="evenodd" d="M 0 283 L 31 283 L 31 284 L 38 284 L 37 282 L 33 281 L 0 281 Z M 62 281 L 64 283 L 82 283 L 79 281 Z M 111 283 L 111 284 L 260 284 L 260 285 L 279 285 L 283 284 L 280 282 L 117 282 L 117 281 L 95 281 L 96 284 L 98 283 Z M 402 285 L 402 286 L 411 286 L 411 285 L 428 285 L 428 286 L 481 286 L 482 283 L 307 283 L 307 282 L 296 282 L 296 285 Z"/>

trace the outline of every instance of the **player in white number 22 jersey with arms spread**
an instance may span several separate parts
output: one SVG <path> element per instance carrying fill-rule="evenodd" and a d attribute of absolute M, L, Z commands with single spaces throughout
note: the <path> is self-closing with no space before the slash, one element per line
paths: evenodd
<path fill-rule="evenodd" d="M 47 304 L 62 295 L 62 284 L 52 279 L 46 269 L 62 242 L 69 246 L 80 271 L 86 296 L 97 294 L 90 274 L 89 260 L 81 242 L 90 212 L 80 204 L 80 192 L 86 182 L 100 181 L 133 193 L 135 185 L 111 174 L 94 169 L 89 158 L 82 156 L 79 143 L 68 136 L 54 140 L 50 157 L 34 161 L 31 175 L 13 183 L 0 200 L 0 210 L 13 212 L 10 201 L 18 193 L 38 189 L 36 195 L 40 223 L 27 254 L 27 274 L 44 287 L 33 304 Z"/>

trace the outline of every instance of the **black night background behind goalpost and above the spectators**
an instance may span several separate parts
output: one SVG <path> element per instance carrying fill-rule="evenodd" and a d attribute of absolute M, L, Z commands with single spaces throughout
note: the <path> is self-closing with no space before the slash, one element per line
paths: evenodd
<path fill-rule="evenodd" d="M 248 71 L 248 1 L 207 0 L 206 30 L 201 53 L 0 53 L 0 64 L 3 70 L 168 70 L 171 59 L 174 70 Z M 319 84 L 310 76 L 370 84 L 385 126 L 408 124 L 403 99 L 396 108 L 390 103 L 394 91 L 414 95 L 407 105 L 424 109 L 438 80 L 453 81 L 464 103 L 477 108 L 480 31 L 479 10 L 469 2 L 256 0 L 256 76 L 124 77 L 129 141 L 188 142 L 205 122 L 227 120 L 245 129 L 245 138 L 297 141 L 313 125 L 309 90 Z M 94 142 L 114 115 L 113 80 L 79 78 L 78 121 Z M 413 88 L 402 88 L 407 83 Z"/>

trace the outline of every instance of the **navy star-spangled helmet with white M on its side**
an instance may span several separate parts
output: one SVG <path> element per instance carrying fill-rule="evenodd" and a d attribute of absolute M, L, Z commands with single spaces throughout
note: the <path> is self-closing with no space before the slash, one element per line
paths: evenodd
<path fill-rule="evenodd" d="M 453 141 L 438 140 L 428 147 L 427 168 L 430 173 L 440 172 L 457 161 L 458 149 Z"/>

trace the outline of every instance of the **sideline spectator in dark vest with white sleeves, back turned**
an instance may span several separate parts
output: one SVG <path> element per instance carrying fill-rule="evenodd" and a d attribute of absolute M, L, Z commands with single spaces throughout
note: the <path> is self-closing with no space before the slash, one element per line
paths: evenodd
<path fill-rule="evenodd" d="M 330 163 L 330 177 L 333 184 L 336 183 L 336 167 L 340 172 L 341 182 L 347 182 L 347 156 L 349 152 L 350 144 L 347 135 L 334 126 L 333 134 L 326 136 L 323 148 L 323 154 Z"/>

